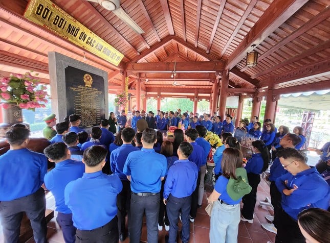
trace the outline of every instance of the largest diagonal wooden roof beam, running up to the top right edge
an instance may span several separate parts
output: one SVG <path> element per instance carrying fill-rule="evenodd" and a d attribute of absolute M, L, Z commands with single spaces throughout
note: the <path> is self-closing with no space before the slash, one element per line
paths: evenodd
<path fill-rule="evenodd" d="M 262 14 L 251 28 L 246 37 L 239 43 L 235 51 L 230 55 L 226 69 L 230 70 L 236 66 L 236 64 L 246 56 L 252 44 L 259 45 L 306 2 L 308 2 L 308 0 L 273 1 L 265 13 Z"/>

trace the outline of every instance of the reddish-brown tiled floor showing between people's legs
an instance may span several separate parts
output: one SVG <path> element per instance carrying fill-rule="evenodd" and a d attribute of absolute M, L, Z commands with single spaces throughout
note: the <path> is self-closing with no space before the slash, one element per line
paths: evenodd
<path fill-rule="evenodd" d="M 191 243 L 208 243 L 209 242 L 209 229 L 210 229 L 210 218 L 205 212 L 206 207 L 206 196 L 210 194 L 211 191 L 207 191 L 205 193 L 204 201 L 202 208 L 198 209 L 197 216 L 195 218 L 194 223 L 190 223 L 190 240 Z M 267 242 L 275 242 L 275 234 L 264 230 L 261 227 L 261 223 L 266 223 L 265 215 L 269 214 L 271 209 L 269 207 L 263 206 L 258 207 L 258 202 L 260 200 L 265 200 L 266 196 L 269 197 L 269 186 L 265 181 L 261 180 L 258 186 L 257 193 L 257 204 L 255 207 L 255 217 L 253 224 L 249 224 L 246 222 L 240 222 L 239 230 L 238 230 L 238 242 L 239 243 L 267 243 Z M 54 209 L 55 202 L 54 198 L 49 193 L 47 196 L 47 208 Z M 179 227 L 181 227 L 179 223 Z M 167 232 L 165 229 L 159 232 L 159 242 L 165 242 L 165 235 Z M 180 237 L 179 237 L 180 238 Z M 55 221 L 55 218 L 51 220 L 48 224 L 48 239 L 49 243 L 62 243 L 64 242 L 62 232 Z M 3 241 L 2 234 L 0 234 L 0 241 Z M 142 228 L 142 242 L 147 242 L 146 238 L 146 224 L 143 223 Z M 35 242 L 33 239 L 27 241 L 28 243 Z M 128 243 L 129 239 L 126 238 L 124 243 Z M 178 241 L 181 243 L 181 240 Z"/>

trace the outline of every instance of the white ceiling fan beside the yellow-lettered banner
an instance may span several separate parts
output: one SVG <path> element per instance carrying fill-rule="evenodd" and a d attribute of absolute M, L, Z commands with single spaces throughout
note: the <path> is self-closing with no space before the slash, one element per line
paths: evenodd
<path fill-rule="evenodd" d="M 87 0 L 89 2 L 98 3 L 106 10 L 112 11 L 116 14 L 121 20 L 123 20 L 126 25 L 128 25 L 131 29 L 133 29 L 138 34 L 143 34 L 144 31 L 134 22 L 131 17 L 124 11 L 124 9 L 120 6 L 120 0 Z"/>

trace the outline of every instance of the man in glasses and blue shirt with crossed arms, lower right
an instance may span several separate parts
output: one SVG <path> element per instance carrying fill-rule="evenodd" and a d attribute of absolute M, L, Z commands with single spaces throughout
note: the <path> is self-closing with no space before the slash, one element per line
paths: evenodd
<path fill-rule="evenodd" d="M 279 151 L 277 156 L 281 166 L 289 173 L 276 180 L 282 195 L 282 210 L 275 242 L 305 242 L 298 227 L 298 214 L 307 208 L 327 210 L 330 187 L 315 167 L 306 164 L 305 157 L 299 151 L 287 148 Z"/>

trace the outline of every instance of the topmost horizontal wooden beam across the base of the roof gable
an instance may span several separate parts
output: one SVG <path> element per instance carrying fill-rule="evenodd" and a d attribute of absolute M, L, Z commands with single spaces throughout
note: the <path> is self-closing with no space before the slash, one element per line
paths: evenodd
<path fill-rule="evenodd" d="M 156 63 L 127 63 L 126 71 L 131 72 L 172 72 L 174 62 Z M 216 72 L 223 71 L 224 63 L 218 62 L 178 62 L 175 66 L 177 72 Z"/>

